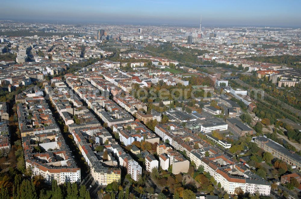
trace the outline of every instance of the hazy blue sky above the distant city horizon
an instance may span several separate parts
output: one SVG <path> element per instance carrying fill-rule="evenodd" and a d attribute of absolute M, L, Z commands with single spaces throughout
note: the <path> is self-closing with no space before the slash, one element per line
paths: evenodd
<path fill-rule="evenodd" d="M 301 27 L 300 0 L 2 0 L 0 19 L 31 22 Z"/>

